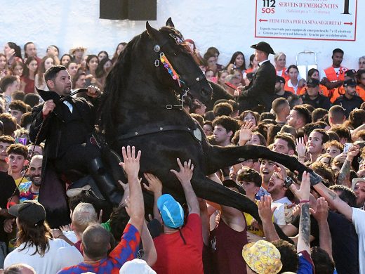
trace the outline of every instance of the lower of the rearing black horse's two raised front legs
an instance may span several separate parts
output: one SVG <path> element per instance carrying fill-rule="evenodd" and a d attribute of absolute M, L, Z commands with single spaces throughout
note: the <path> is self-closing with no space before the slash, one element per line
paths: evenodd
<path fill-rule="evenodd" d="M 194 188 L 197 197 L 247 212 L 260 222 L 258 207 L 245 195 L 230 190 L 229 188 L 206 178 L 203 174 L 193 176 L 192 187 Z"/>

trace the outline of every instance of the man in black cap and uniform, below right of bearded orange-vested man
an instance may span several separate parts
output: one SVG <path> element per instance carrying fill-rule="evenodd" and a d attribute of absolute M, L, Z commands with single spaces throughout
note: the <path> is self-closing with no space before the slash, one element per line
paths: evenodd
<path fill-rule="evenodd" d="M 360 108 L 360 105 L 364 102 L 356 93 L 356 81 L 354 79 L 348 79 L 343 82 L 343 88 L 345 94 L 337 98 L 333 105 L 341 105 L 345 109 L 346 119 L 349 117 L 350 112 L 354 108 Z"/>

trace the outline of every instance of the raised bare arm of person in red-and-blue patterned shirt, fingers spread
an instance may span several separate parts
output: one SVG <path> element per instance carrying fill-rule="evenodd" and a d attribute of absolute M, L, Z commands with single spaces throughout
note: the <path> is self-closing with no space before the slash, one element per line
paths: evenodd
<path fill-rule="evenodd" d="M 135 226 L 141 233 L 143 223 L 145 222 L 145 207 L 143 205 L 142 188 L 138 179 L 138 172 L 140 171 L 140 150 L 137 156 L 135 156 L 135 147 L 133 146 L 131 148 L 128 145 L 127 148 L 121 148 L 121 154 L 123 155 L 124 162 L 120 163 L 120 165 L 126 171 L 131 198 L 129 209 L 131 218 L 129 223 Z"/>

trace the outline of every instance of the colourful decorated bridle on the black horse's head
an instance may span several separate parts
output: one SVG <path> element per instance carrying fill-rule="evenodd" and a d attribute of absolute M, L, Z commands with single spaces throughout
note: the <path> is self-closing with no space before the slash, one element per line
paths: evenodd
<path fill-rule="evenodd" d="M 171 37 L 173 35 L 171 34 Z M 181 44 L 182 40 L 176 39 L 176 37 L 173 37 L 175 39 L 176 44 Z M 178 72 L 173 68 L 173 65 L 168 61 L 168 58 L 166 57 L 164 51 L 161 51 L 161 48 L 167 44 L 167 41 L 164 42 L 161 46 L 159 44 L 154 45 L 154 52 L 157 54 L 157 58 L 154 60 L 154 66 L 159 67 L 161 64 L 164 65 L 165 69 L 167 70 L 168 74 L 170 74 L 171 78 L 174 81 L 178 82 L 178 86 L 180 87 L 180 93 L 179 96 L 176 96 L 176 100 L 178 101 L 178 105 L 173 104 L 167 104 L 166 110 L 183 110 L 184 103 L 185 103 L 185 97 L 187 96 L 187 93 L 189 93 L 190 88 L 194 87 L 195 85 L 199 84 L 201 80 L 203 80 L 204 74 L 201 73 L 199 77 L 195 78 L 195 81 L 192 85 L 188 85 L 185 80 L 183 80 Z"/>

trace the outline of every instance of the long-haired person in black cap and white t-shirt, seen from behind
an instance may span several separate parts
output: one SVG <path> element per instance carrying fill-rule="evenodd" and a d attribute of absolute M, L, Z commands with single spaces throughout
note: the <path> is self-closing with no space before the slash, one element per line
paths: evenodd
<path fill-rule="evenodd" d="M 83 261 L 76 247 L 55 239 L 46 220 L 46 210 L 36 201 L 25 201 L 8 210 L 16 216 L 18 227 L 15 250 L 6 256 L 4 268 L 15 263 L 27 263 L 36 273 L 57 273 L 62 268 Z"/>

